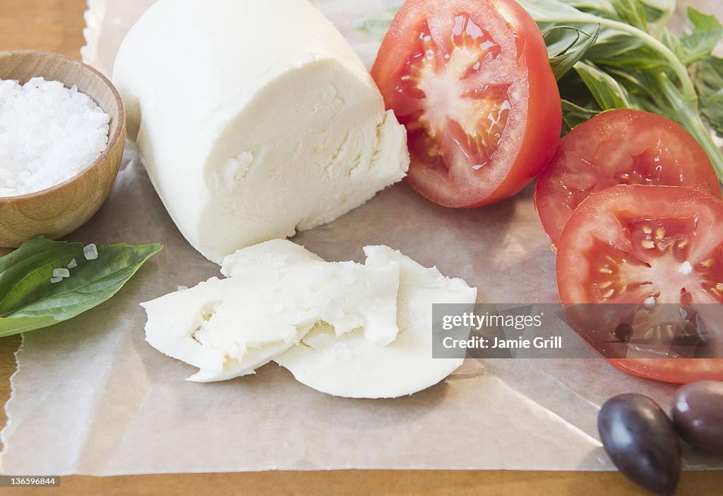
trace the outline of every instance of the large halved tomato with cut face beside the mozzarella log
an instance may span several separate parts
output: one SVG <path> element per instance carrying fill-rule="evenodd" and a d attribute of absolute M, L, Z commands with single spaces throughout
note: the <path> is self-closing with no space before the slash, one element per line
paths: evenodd
<path fill-rule="evenodd" d="M 407 0 L 372 77 L 406 126 L 408 183 L 442 206 L 512 196 L 560 137 L 547 49 L 513 0 Z"/>

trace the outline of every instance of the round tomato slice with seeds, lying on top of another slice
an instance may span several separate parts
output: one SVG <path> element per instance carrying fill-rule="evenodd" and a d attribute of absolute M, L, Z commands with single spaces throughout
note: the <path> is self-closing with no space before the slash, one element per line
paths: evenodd
<path fill-rule="evenodd" d="M 659 320 L 669 317 L 669 309 L 675 308 L 671 304 L 707 305 L 706 312 L 714 310 L 719 315 L 723 304 L 721 225 L 723 201 L 691 188 L 621 185 L 589 196 L 568 219 L 558 245 L 560 300 L 567 305 L 659 308 L 647 312 L 656 322 L 645 321 L 658 334 L 675 331 Z M 600 311 L 602 315 L 604 310 Z M 713 326 L 706 328 L 706 342 L 714 343 L 718 352 L 706 356 L 720 356 L 721 320 L 709 319 Z M 582 331 L 588 340 L 594 334 Z M 600 351 L 619 337 L 619 331 L 609 326 L 591 344 Z M 723 380 L 723 359 L 659 356 L 609 361 L 628 373 L 667 382 Z"/>

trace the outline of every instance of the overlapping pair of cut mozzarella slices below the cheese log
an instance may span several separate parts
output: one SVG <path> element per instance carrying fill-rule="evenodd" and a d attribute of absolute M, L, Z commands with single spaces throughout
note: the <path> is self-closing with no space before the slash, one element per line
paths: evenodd
<path fill-rule="evenodd" d="M 432 358 L 432 304 L 476 300 L 386 246 L 367 261 L 326 262 L 287 240 L 223 261 L 223 274 L 143 303 L 146 340 L 200 368 L 208 382 L 253 373 L 275 360 L 301 383 L 350 398 L 393 398 L 433 386 L 463 358 Z"/>

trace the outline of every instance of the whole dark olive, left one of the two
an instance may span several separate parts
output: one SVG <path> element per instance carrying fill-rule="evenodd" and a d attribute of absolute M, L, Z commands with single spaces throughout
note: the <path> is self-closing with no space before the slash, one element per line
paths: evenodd
<path fill-rule="evenodd" d="M 680 440 L 662 409 L 641 394 L 609 399 L 597 417 L 605 452 L 626 477 L 659 495 L 680 478 Z"/>

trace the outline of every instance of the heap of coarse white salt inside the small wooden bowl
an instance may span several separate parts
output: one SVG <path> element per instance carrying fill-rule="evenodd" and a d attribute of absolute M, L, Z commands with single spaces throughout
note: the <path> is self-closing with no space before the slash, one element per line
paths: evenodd
<path fill-rule="evenodd" d="M 0 196 L 40 191 L 80 173 L 108 146 L 110 120 L 75 86 L 0 79 Z"/>

